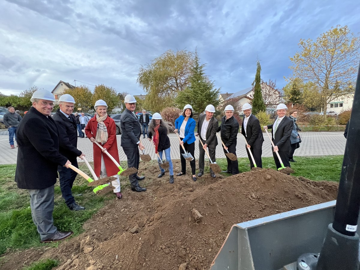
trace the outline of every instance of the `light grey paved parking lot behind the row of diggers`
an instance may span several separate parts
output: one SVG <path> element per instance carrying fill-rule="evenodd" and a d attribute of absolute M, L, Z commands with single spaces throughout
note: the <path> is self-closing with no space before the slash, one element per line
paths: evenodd
<path fill-rule="evenodd" d="M 271 144 L 266 133 L 264 135 L 264 144 L 262 145 L 262 156 L 271 157 Z M 296 149 L 294 156 L 327 156 L 343 154 L 345 150 L 346 139 L 343 132 L 301 132 L 302 143 L 300 148 Z M 171 158 L 180 159 L 179 140 L 175 134 L 169 134 L 171 143 Z M 142 137 L 141 137 L 142 139 Z M 145 146 L 145 152 L 156 159 L 155 149 L 148 139 L 142 139 Z M 121 135 L 117 136 L 117 145 L 119 149 L 120 160 L 126 160 L 125 153 L 120 146 Z M 219 145 L 216 148 L 216 157 L 224 158 L 225 154 L 218 138 Z M 198 139 L 195 142 L 195 158 L 199 157 Z M 93 161 L 93 144 L 87 138 L 78 139 L 78 147 L 85 153 L 88 161 Z M 0 162 L 1 164 L 16 163 L 17 148 L 11 149 L 9 145 L 8 131 L 0 131 Z M 247 157 L 244 137 L 238 134 L 237 156 Z"/>

